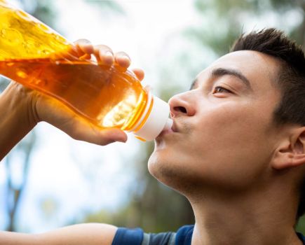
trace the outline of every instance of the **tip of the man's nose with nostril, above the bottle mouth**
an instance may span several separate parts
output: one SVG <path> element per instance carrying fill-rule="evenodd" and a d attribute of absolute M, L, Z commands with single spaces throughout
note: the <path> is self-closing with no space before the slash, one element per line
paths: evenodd
<path fill-rule="evenodd" d="M 187 95 L 187 92 L 171 97 L 168 104 L 170 105 L 170 116 L 172 118 L 194 116 L 196 113 L 194 102 L 191 102 L 190 94 Z"/>

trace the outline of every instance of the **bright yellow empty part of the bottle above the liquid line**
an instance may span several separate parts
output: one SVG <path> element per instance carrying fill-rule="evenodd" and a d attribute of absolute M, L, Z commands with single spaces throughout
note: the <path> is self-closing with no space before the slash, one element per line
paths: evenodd
<path fill-rule="evenodd" d="M 0 0 L 0 59 L 49 58 L 71 48 L 65 38 L 28 13 Z"/>

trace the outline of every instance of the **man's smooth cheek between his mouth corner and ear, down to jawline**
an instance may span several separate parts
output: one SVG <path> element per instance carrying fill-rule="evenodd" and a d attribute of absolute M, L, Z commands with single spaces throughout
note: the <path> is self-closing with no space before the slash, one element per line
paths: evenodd
<path fill-rule="evenodd" d="M 271 157 L 270 113 L 250 106 L 217 109 L 197 118 L 189 156 L 196 172 L 241 183 L 262 174 Z M 200 124 L 199 124 L 200 122 Z"/>

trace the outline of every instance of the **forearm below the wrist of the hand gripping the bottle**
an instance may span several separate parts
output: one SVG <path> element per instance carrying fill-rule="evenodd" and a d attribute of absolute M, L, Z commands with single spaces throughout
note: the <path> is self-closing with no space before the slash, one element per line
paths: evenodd
<path fill-rule="evenodd" d="M 27 92 L 11 83 L 0 94 L 0 160 L 36 125 Z"/>

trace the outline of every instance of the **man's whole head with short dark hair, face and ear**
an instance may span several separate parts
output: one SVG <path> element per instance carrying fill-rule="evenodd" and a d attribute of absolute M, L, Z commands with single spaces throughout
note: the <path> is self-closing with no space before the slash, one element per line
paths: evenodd
<path fill-rule="evenodd" d="M 238 38 L 170 107 L 174 132 L 156 139 L 149 160 L 157 179 L 187 195 L 263 191 L 273 181 L 298 193 L 305 59 L 282 32 Z"/>

